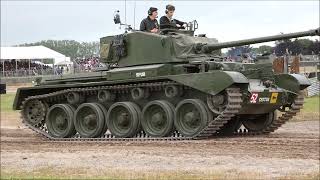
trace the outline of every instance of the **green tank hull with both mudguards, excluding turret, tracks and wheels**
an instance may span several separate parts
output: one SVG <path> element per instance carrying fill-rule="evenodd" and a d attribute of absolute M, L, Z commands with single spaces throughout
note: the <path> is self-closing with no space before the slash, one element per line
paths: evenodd
<path fill-rule="evenodd" d="M 241 114 L 267 113 L 280 106 L 290 104 L 299 92 L 310 86 L 309 80 L 298 74 L 275 75 L 277 87 L 266 87 L 260 79 L 249 79 L 235 71 L 210 71 L 166 75 L 166 65 L 134 68 L 122 68 L 115 71 L 85 73 L 83 76 L 55 77 L 43 80 L 34 87 L 19 88 L 13 103 L 14 110 L 20 110 L 22 102 L 29 96 L 53 93 L 56 91 L 135 83 L 173 81 L 194 88 L 207 95 L 217 95 L 229 87 L 239 87 L 244 94 Z M 137 76 L 138 75 L 138 76 Z M 90 82 L 87 82 L 90 80 Z"/>

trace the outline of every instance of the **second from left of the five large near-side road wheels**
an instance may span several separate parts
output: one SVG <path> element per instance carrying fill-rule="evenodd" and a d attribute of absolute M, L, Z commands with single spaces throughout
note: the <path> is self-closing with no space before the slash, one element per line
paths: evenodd
<path fill-rule="evenodd" d="M 81 137 L 95 138 L 105 129 L 105 115 L 97 103 L 81 104 L 74 116 L 74 126 Z"/>

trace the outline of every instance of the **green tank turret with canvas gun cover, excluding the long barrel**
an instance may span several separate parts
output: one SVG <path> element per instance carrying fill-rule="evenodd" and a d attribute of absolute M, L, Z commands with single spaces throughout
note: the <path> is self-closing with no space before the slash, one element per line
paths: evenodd
<path fill-rule="evenodd" d="M 196 44 L 215 44 L 214 38 L 194 37 L 188 34 L 166 35 L 131 32 L 100 39 L 100 58 L 105 63 L 120 67 L 188 62 L 198 58 Z"/>

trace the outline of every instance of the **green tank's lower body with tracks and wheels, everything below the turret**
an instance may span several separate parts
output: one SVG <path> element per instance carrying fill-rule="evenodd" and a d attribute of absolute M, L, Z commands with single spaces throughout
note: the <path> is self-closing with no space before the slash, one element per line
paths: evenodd
<path fill-rule="evenodd" d="M 255 123 L 253 126 L 251 119 L 254 119 L 255 122 L 257 117 L 260 118 L 261 115 L 273 113 L 281 107 L 293 106 L 285 115 L 288 120 L 289 116 L 295 114 L 295 111 L 302 107 L 303 101 L 301 104 L 300 91 L 309 85 L 308 80 L 299 75 L 278 75 L 275 82 L 279 86 L 266 87 L 261 80 L 248 79 L 235 71 L 216 70 L 158 76 L 162 73 L 161 68 L 163 67 L 156 66 L 160 69 L 158 72 L 157 69 L 153 69 L 154 67 L 152 66 L 149 72 L 141 72 L 141 69 L 138 68 L 135 77 L 129 79 L 122 78 L 132 76 L 133 73 L 129 73 L 132 72 L 132 68 L 113 71 L 115 74 L 111 75 L 108 74 L 110 72 L 89 73 L 89 76 L 85 78 L 90 78 L 92 80 L 90 83 L 82 82 L 83 78 L 72 76 L 43 80 L 35 87 L 19 88 L 13 108 L 15 110 L 21 109 L 23 122 L 28 127 L 52 140 L 70 140 L 70 138 L 72 140 L 83 140 L 84 138 L 90 140 L 124 138 L 127 140 L 138 137 L 140 140 L 141 138 L 144 140 L 154 138 L 158 140 L 203 139 L 223 134 L 222 130 L 229 125 L 228 122 L 233 122 L 233 119 L 241 119 L 241 122 L 246 124 L 248 129 L 251 128 L 248 131 L 250 133 L 259 134 L 274 131 L 279 125 L 273 125 L 270 121 L 267 126 L 257 126 Z M 154 77 L 149 77 L 151 72 L 155 74 Z M 108 80 L 111 78 L 114 79 Z M 115 127 L 112 130 L 112 127 L 116 125 L 108 122 L 109 119 L 114 118 L 114 121 L 122 122 L 127 118 L 127 116 L 124 120 L 118 118 L 122 117 L 122 114 L 118 112 L 120 108 L 118 106 L 127 107 L 129 110 L 131 108 L 131 113 L 134 114 L 131 114 L 130 117 L 136 117 L 135 130 L 129 135 L 124 132 L 121 134 L 121 131 L 113 132 L 117 130 Z M 149 110 L 146 107 L 153 109 Z M 154 110 L 155 107 L 167 109 Z M 190 107 L 193 108 L 190 110 Z M 83 115 L 80 113 L 84 111 L 83 109 L 88 112 L 97 111 L 97 114 Z M 186 112 L 185 109 L 189 109 L 190 112 Z M 66 124 L 60 122 L 61 117 L 57 115 L 59 114 L 57 112 L 60 111 L 62 114 L 70 114 L 64 117 L 64 119 L 70 119 L 68 122 L 72 124 L 70 128 L 68 128 L 69 126 L 65 127 L 69 131 L 64 134 L 68 136 L 62 136 L 63 133 L 59 134 L 60 131 L 56 132 L 56 129 L 62 126 L 61 124 Z M 149 111 L 151 115 L 148 114 Z M 154 111 L 157 113 L 152 114 Z M 199 112 L 195 115 L 194 111 Z M 160 112 L 166 112 L 165 115 L 171 118 L 170 122 L 174 122 L 170 128 L 168 127 L 170 130 L 154 134 L 153 129 L 148 128 L 147 125 L 142 127 L 141 123 L 148 121 L 148 119 L 155 122 L 163 121 L 163 116 L 159 115 Z M 79 113 L 80 115 L 78 115 Z M 80 120 L 77 120 L 79 117 Z M 84 118 L 81 119 L 81 117 Z M 92 117 L 96 117 L 93 118 L 94 122 L 101 122 L 99 126 L 95 126 L 101 127 L 100 130 L 97 130 L 94 136 L 88 135 L 88 133 L 81 134 L 86 131 L 79 130 L 79 127 L 89 126 Z M 97 117 L 100 118 L 97 119 Z M 262 118 L 261 122 L 267 122 L 267 116 L 263 117 L 265 118 Z M 199 127 L 196 126 L 198 118 L 202 122 L 198 124 Z M 77 121 L 87 122 L 87 124 L 79 125 Z M 193 123 L 190 125 L 189 121 Z M 258 121 L 260 122 L 260 120 Z M 286 121 L 277 120 L 274 117 L 272 122 L 283 124 Z M 181 125 L 181 123 L 185 124 Z M 190 127 L 197 128 L 183 129 L 188 123 Z M 146 124 L 146 122 L 142 124 Z M 153 125 L 159 126 L 157 123 L 153 123 Z M 75 130 L 76 128 L 73 126 L 78 129 Z M 102 133 L 109 131 L 109 128 L 111 133 L 109 132 L 108 135 Z M 233 133 L 228 135 L 233 135 L 236 130 L 231 132 Z"/>

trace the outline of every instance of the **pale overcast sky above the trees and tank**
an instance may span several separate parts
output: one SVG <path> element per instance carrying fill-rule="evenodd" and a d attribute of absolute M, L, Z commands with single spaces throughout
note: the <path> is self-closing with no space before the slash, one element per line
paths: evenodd
<path fill-rule="evenodd" d="M 168 3 L 176 6 L 176 19 L 198 21 L 196 34 L 205 33 L 220 42 L 319 27 L 319 1 L 131 0 L 126 1 L 125 18 L 125 1 L 1 0 L 1 46 L 47 39 L 99 41 L 124 31 L 113 23 L 115 10 L 120 10 L 122 21 L 139 28 L 150 6 L 159 9 L 160 18 Z"/>

